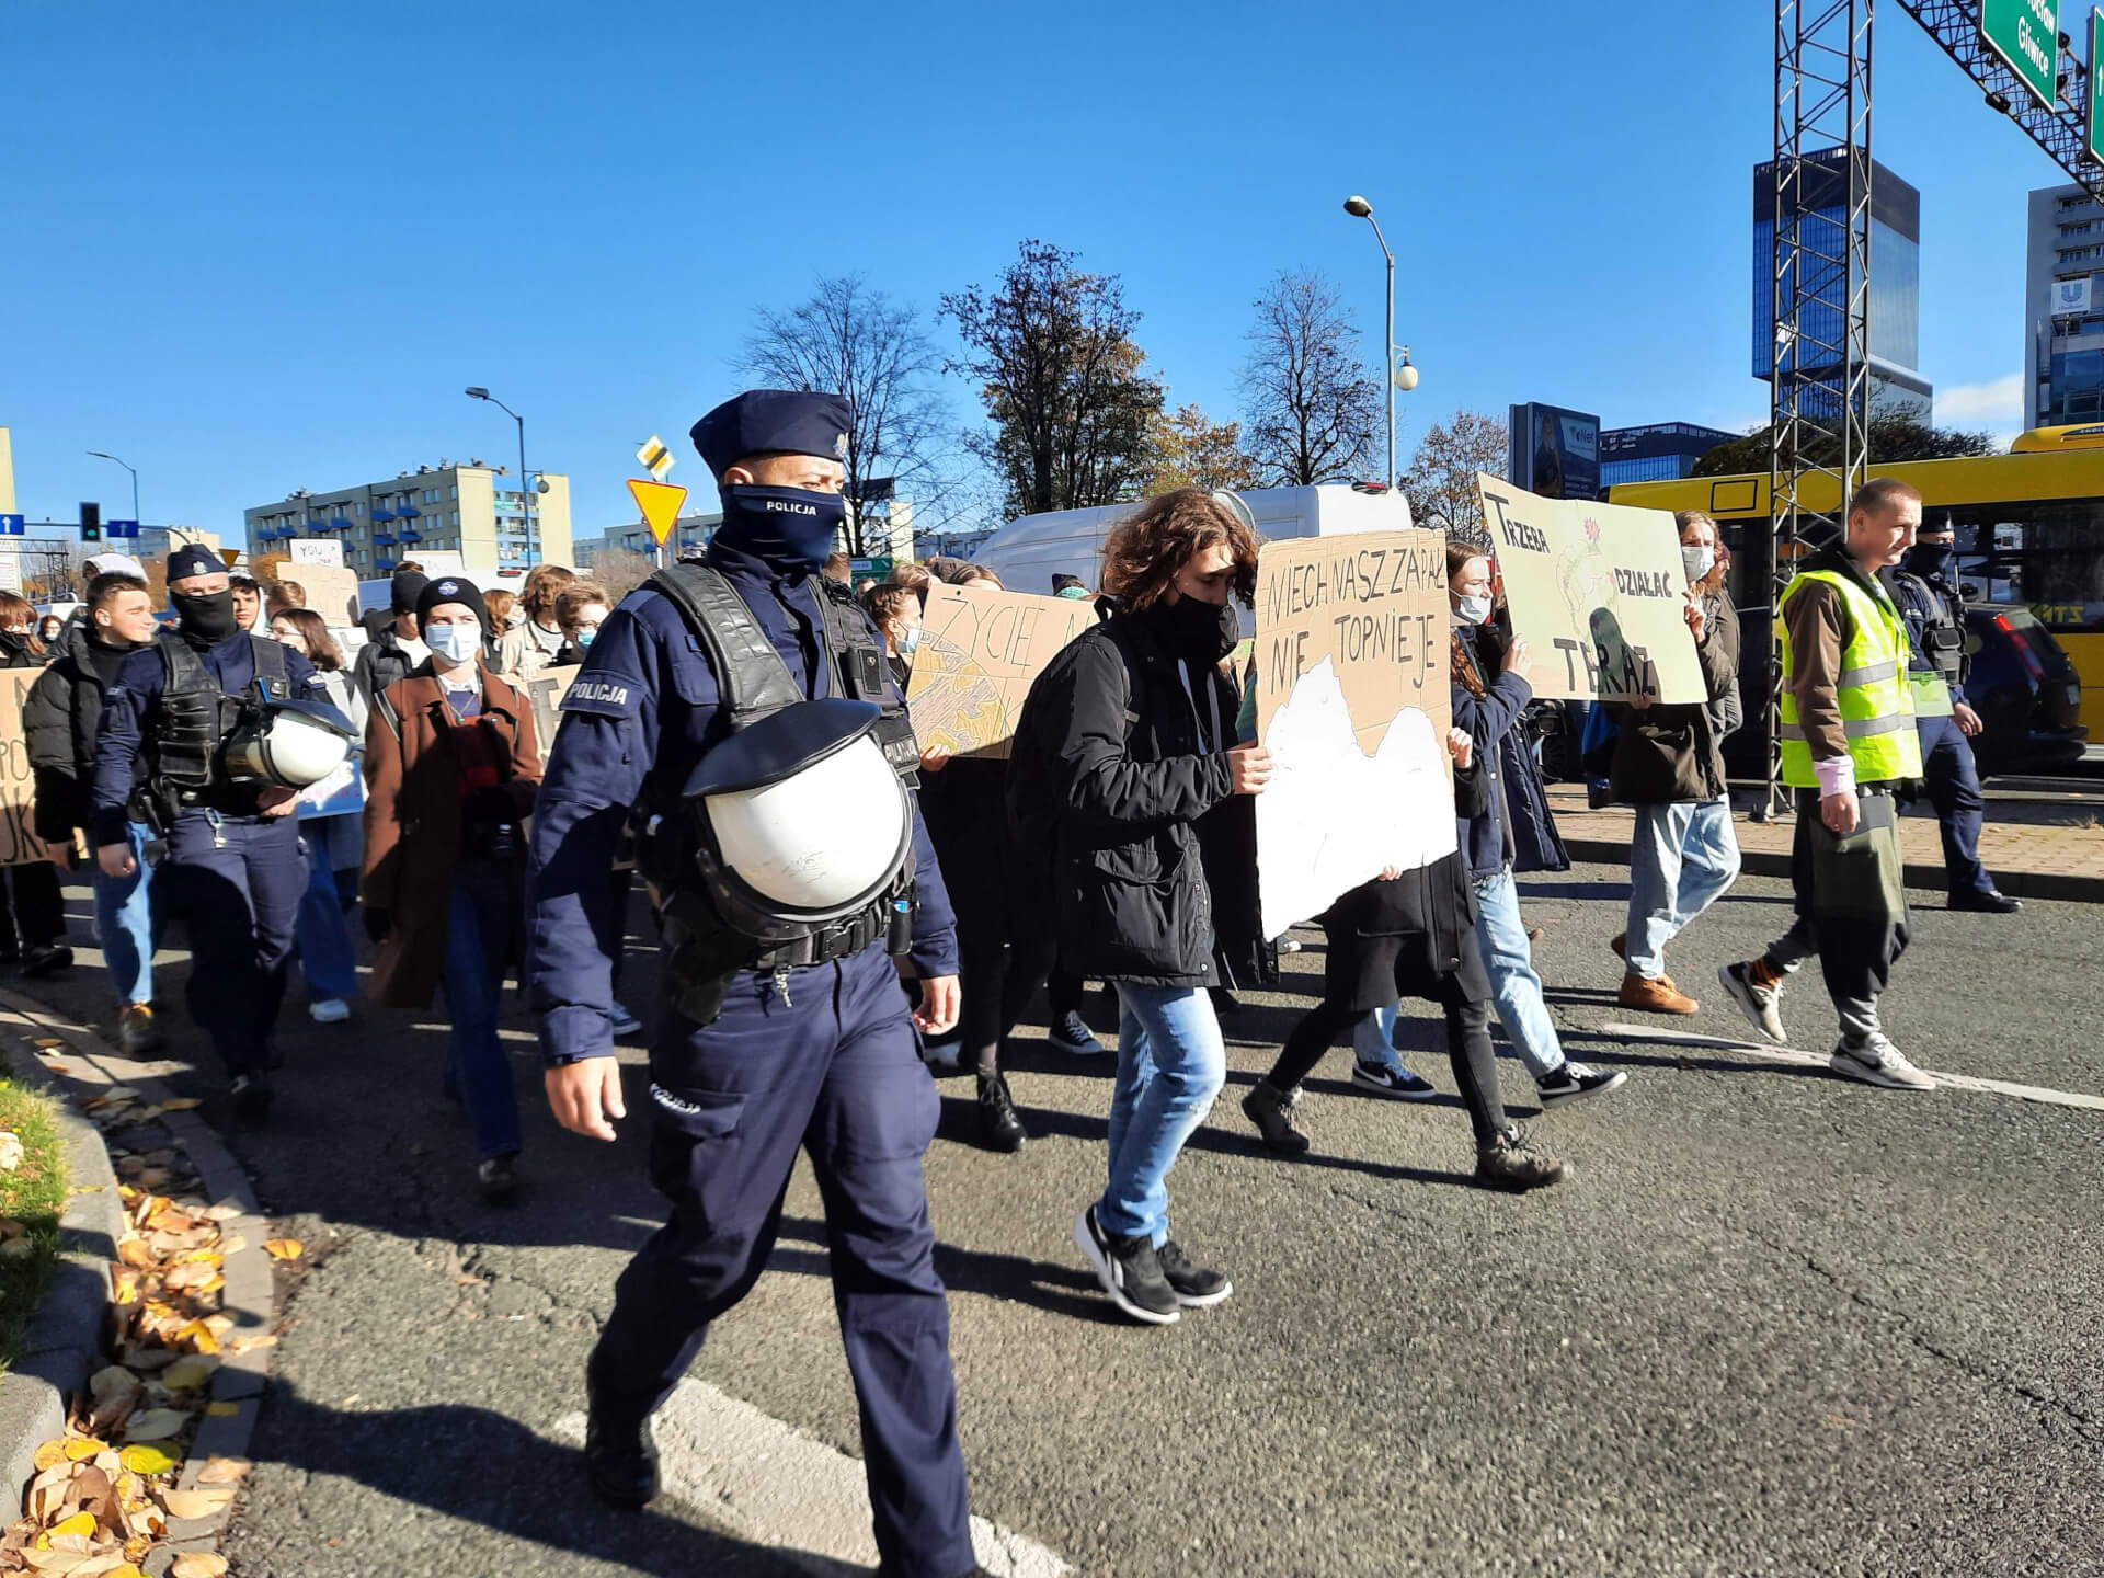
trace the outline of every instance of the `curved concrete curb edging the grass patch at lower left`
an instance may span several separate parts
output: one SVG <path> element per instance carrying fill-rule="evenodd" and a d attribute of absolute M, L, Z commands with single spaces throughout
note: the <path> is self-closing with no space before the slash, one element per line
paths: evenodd
<path fill-rule="evenodd" d="M 6 1048 L 8 1073 L 50 1096 L 65 1142 L 65 1210 L 59 1262 L 36 1304 L 15 1368 L 0 1378 L 0 1523 L 21 1517 L 21 1490 L 36 1477 L 36 1450 L 65 1435 L 67 1397 L 88 1382 L 109 1317 L 109 1262 L 124 1235 L 124 1206 L 109 1147 L 27 1046 Z"/>

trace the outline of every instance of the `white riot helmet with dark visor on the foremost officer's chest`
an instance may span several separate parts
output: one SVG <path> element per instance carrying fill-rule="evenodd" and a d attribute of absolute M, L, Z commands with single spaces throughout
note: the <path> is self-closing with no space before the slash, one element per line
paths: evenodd
<path fill-rule="evenodd" d="M 867 701 L 802 701 L 709 751 L 686 785 L 717 913 L 760 938 L 846 919 L 913 856 L 913 808 Z"/>

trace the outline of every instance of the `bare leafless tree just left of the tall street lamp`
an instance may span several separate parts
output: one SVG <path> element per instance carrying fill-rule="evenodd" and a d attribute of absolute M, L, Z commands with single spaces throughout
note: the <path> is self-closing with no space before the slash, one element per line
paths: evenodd
<path fill-rule="evenodd" d="M 1241 366 L 1243 448 L 1271 482 L 1342 482 L 1365 469 L 1382 421 L 1359 330 L 1319 274 L 1279 274 L 1256 299 Z"/>

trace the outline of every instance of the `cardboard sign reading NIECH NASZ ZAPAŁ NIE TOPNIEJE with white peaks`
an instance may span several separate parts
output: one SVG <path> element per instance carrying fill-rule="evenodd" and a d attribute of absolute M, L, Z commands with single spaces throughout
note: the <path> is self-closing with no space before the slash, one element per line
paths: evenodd
<path fill-rule="evenodd" d="M 1384 867 L 1458 848 L 1445 532 L 1265 543 L 1256 560 L 1256 797 L 1265 936 Z"/>

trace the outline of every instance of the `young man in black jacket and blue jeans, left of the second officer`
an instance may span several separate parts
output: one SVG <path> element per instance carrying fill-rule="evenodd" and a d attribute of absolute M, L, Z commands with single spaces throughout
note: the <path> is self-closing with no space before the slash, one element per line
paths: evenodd
<path fill-rule="evenodd" d="M 93 823 L 95 728 L 103 717 L 103 696 L 124 656 L 151 640 L 154 600 L 145 581 L 99 574 L 88 583 L 86 619 L 72 625 L 57 656 L 23 696 L 21 724 L 36 783 L 36 835 L 61 871 L 78 867 L 76 833 Z M 95 930 L 103 938 L 103 959 L 118 989 L 118 1046 L 128 1056 L 143 1056 L 160 1046 L 160 1029 L 154 1025 L 151 867 L 145 858 L 149 837 L 151 829 L 135 816 L 133 873 L 126 877 L 109 877 L 88 865 Z"/>

